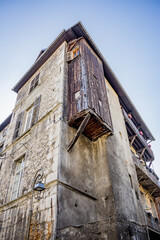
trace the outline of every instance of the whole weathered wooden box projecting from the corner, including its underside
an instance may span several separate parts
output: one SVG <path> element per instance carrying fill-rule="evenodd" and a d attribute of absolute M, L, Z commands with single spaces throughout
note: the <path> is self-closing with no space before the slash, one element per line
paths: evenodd
<path fill-rule="evenodd" d="M 84 134 L 96 140 L 112 129 L 103 65 L 84 38 L 74 45 L 76 48 L 80 55 L 68 64 L 68 122 L 78 128 L 91 112 Z"/>

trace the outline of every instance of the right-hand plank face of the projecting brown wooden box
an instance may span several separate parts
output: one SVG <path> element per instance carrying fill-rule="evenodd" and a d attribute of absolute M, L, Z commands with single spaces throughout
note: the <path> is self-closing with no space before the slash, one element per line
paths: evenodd
<path fill-rule="evenodd" d="M 111 127 L 112 123 L 102 62 L 86 41 L 84 39 L 81 41 L 83 41 L 84 44 L 84 59 L 88 78 L 88 107 L 95 111 L 95 113 Z"/>

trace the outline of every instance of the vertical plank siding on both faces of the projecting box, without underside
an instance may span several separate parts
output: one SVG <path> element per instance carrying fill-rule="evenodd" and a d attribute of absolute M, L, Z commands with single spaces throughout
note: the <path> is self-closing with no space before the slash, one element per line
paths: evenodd
<path fill-rule="evenodd" d="M 80 55 L 68 64 L 68 120 L 90 108 L 111 127 L 102 62 L 85 39 L 76 46 Z"/>

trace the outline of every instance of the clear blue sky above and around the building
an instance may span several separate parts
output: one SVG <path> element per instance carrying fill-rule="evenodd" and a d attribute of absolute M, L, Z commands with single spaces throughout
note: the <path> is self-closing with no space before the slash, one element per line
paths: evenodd
<path fill-rule="evenodd" d="M 83 25 L 153 133 L 160 176 L 160 1 L 0 0 L 0 122 L 14 108 L 11 88 L 40 50 Z"/>

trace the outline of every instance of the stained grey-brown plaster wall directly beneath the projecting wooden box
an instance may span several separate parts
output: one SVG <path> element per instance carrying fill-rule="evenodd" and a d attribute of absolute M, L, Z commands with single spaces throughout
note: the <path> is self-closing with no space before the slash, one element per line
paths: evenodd
<path fill-rule="evenodd" d="M 117 239 L 106 139 L 93 143 L 81 135 L 68 153 L 75 133 L 62 122 L 57 239 Z"/>

